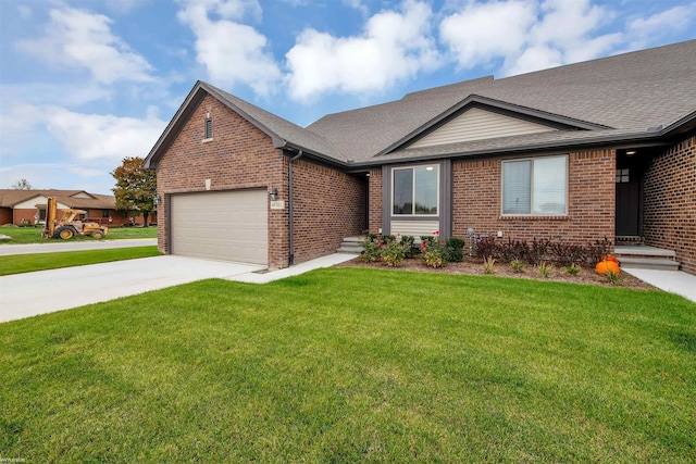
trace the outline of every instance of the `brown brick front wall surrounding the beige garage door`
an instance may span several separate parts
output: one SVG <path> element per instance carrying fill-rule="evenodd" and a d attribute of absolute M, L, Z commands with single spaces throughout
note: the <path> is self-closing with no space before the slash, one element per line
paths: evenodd
<path fill-rule="evenodd" d="M 213 120 L 213 140 L 202 142 L 206 113 Z M 287 202 L 287 158 L 273 148 L 271 138 L 207 96 L 177 134 L 160 160 L 158 195 L 158 243 L 167 252 L 167 195 L 241 188 L 278 189 L 278 200 Z M 287 266 L 288 216 L 285 210 L 269 208 L 269 266 Z"/>

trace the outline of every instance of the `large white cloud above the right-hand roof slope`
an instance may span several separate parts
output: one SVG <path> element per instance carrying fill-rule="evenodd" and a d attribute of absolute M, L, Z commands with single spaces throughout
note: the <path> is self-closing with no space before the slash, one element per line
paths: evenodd
<path fill-rule="evenodd" d="M 512 75 L 592 60 L 624 41 L 599 34 L 613 18 L 591 0 L 469 2 L 440 23 L 440 38 L 460 67 L 502 61 Z M 593 37 L 594 36 L 594 37 Z"/>

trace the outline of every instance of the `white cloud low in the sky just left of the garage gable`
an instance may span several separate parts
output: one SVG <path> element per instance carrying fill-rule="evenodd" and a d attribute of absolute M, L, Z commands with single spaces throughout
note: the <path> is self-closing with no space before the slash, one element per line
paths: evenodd
<path fill-rule="evenodd" d="M 114 115 L 83 114 L 64 108 L 44 109 L 46 127 L 78 161 L 113 161 L 145 158 L 166 122 L 151 114 L 145 120 Z"/>

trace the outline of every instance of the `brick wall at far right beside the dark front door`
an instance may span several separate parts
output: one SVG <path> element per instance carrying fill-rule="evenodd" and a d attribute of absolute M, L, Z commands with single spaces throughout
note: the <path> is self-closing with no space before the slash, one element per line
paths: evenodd
<path fill-rule="evenodd" d="M 674 250 L 682 269 L 696 274 L 696 137 L 652 159 L 643 186 L 646 244 Z"/>

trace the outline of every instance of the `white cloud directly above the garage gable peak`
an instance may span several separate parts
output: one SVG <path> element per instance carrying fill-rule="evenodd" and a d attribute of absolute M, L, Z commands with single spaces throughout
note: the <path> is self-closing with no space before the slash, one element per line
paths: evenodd
<path fill-rule="evenodd" d="M 214 15 L 220 20 L 211 18 Z M 245 84 L 269 95 L 281 78 L 281 70 L 266 50 L 265 36 L 238 22 L 248 15 L 260 20 L 261 7 L 256 0 L 189 0 L 177 17 L 196 35 L 196 59 L 211 79 Z"/>

